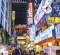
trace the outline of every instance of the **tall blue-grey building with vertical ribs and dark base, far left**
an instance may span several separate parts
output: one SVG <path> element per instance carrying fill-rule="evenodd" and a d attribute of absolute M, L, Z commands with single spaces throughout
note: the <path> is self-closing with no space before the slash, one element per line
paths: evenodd
<path fill-rule="evenodd" d="M 11 0 L 0 0 L 0 37 L 3 44 L 8 44 L 11 36 Z"/>

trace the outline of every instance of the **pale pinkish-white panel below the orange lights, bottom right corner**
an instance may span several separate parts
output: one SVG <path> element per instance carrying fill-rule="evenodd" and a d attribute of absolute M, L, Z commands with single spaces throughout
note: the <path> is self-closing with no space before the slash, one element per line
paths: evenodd
<path fill-rule="evenodd" d="M 43 47 L 43 51 L 47 52 L 48 55 L 58 55 L 60 54 L 60 46 Z"/>

